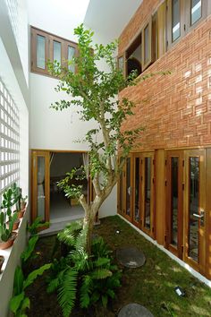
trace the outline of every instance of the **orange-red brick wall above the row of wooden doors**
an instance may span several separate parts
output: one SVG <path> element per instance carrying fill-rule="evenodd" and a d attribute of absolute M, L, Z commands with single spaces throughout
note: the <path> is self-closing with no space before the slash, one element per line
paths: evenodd
<path fill-rule="evenodd" d="M 144 0 L 120 37 L 119 53 L 134 39 L 162 1 Z M 139 150 L 211 145 L 211 16 L 201 21 L 145 73 L 171 70 L 136 87 L 122 90 L 120 98 L 137 103 L 135 116 L 124 129 L 145 126 Z"/>

